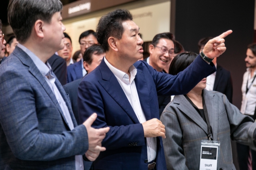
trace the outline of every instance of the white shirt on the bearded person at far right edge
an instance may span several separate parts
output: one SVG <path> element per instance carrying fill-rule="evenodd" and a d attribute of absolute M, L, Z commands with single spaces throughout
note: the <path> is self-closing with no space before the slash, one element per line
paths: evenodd
<path fill-rule="evenodd" d="M 242 84 L 242 105 L 241 105 L 241 113 L 245 115 L 254 115 L 255 107 L 256 107 L 256 80 L 253 80 L 256 75 L 256 71 L 254 71 L 253 76 L 251 77 L 251 71 L 247 68 L 247 71 L 244 73 L 243 84 Z M 250 89 L 246 93 L 246 84 L 248 80 L 248 88 L 251 85 Z"/>

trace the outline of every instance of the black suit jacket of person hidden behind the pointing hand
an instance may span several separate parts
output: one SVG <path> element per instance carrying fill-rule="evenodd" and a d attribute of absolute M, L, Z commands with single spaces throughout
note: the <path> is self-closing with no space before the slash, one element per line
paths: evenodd
<path fill-rule="evenodd" d="M 233 97 L 233 85 L 230 71 L 224 69 L 220 65 L 217 65 L 216 77 L 213 86 L 214 91 L 223 93 L 228 98 L 228 101 L 232 103 Z"/>

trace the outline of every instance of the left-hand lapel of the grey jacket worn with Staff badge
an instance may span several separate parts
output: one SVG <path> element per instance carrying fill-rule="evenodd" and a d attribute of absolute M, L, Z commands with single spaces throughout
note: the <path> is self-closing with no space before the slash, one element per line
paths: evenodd
<path fill-rule="evenodd" d="M 178 103 L 178 109 L 187 115 L 192 121 L 194 121 L 199 127 L 201 127 L 206 134 L 207 124 L 202 119 L 202 117 L 197 113 L 196 109 L 189 103 L 189 101 L 184 97 L 184 95 L 178 95 L 174 97 L 174 103 Z"/>

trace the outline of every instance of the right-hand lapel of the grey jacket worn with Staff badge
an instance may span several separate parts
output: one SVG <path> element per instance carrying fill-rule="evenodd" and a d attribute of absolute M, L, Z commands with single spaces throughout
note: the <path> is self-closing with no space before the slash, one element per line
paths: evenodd
<path fill-rule="evenodd" d="M 217 140 L 218 130 L 218 99 L 214 97 L 211 91 L 204 90 L 204 101 L 209 115 L 210 125 L 212 127 L 213 140 Z"/>

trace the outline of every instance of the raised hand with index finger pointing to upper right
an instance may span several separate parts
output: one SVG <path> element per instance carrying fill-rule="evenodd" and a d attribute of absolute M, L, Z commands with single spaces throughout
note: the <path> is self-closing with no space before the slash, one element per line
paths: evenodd
<path fill-rule="evenodd" d="M 232 33 L 232 30 L 222 33 L 220 36 L 209 40 L 203 49 L 204 55 L 208 58 L 219 57 L 222 53 L 226 51 L 224 38 Z"/>

